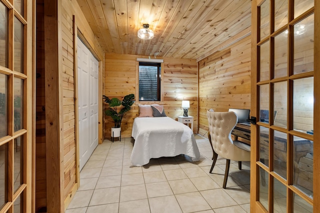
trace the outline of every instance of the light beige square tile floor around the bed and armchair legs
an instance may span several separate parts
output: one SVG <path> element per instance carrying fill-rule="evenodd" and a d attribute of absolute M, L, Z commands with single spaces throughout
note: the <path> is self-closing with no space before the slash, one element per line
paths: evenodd
<path fill-rule="evenodd" d="M 66 213 L 71 212 L 249 212 L 249 162 L 231 161 L 226 189 L 222 188 L 225 159 L 218 157 L 213 173 L 209 141 L 195 135 L 201 158 L 151 159 L 132 166 L 132 138 L 104 140 L 80 172 L 80 187 Z"/>

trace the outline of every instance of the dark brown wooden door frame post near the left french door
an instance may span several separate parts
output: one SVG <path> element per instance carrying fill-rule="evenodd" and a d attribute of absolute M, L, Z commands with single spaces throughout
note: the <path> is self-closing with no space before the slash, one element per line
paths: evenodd
<path fill-rule="evenodd" d="M 44 2 L 45 146 L 47 212 L 63 212 L 63 99 L 61 0 Z M 54 175 L 55 174 L 55 175 Z"/>

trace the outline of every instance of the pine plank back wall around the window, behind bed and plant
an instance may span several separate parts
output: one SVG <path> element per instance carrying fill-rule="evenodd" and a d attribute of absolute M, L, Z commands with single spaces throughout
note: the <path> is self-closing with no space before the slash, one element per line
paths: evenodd
<path fill-rule="evenodd" d="M 141 55 L 105 54 L 104 94 L 123 98 L 135 94 L 136 58 Z M 190 100 L 188 114 L 194 116 L 193 132 L 197 132 L 197 63 L 195 59 L 163 58 L 163 105 L 167 116 L 177 119 L 183 114 L 181 101 Z M 136 99 L 137 95 L 135 94 Z M 160 103 L 161 104 L 161 103 Z M 121 136 L 130 137 L 133 119 L 138 116 L 138 105 L 133 104 L 121 123 Z M 110 138 L 113 120 L 105 116 L 104 136 Z"/>

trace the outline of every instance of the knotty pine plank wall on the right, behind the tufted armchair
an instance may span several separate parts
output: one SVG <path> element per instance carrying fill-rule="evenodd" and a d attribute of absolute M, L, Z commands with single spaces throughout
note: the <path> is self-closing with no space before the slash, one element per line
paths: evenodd
<path fill-rule="evenodd" d="M 198 61 L 199 134 L 206 136 L 206 111 L 250 109 L 250 36 Z"/>

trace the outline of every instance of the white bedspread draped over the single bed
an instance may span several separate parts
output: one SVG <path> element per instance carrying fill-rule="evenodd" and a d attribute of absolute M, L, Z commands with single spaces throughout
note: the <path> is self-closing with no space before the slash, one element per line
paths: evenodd
<path fill-rule="evenodd" d="M 132 165 L 147 164 L 150 158 L 186 154 L 196 161 L 200 157 L 192 130 L 170 117 L 136 117 L 131 136 L 135 139 Z"/>

